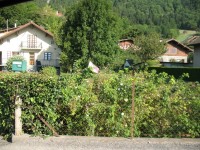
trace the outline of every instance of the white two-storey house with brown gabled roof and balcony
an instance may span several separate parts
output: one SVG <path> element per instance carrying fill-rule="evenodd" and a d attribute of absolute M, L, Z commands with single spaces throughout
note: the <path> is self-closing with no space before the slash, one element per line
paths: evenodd
<path fill-rule="evenodd" d="M 14 55 L 24 57 L 27 61 L 27 70 L 36 70 L 37 64 L 59 67 L 60 53 L 53 34 L 34 22 L 0 31 L 1 69 Z M 36 60 L 39 63 L 36 64 Z"/>

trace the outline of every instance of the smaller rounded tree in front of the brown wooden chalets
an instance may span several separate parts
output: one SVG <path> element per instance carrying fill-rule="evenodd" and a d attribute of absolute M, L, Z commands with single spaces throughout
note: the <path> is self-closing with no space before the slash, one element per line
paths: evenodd
<path fill-rule="evenodd" d="M 157 33 L 140 35 L 135 38 L 135 46 L 131 51 L 139 57 L 141 62 L 154 60 L 165 52 L 164 43 L 161 42 Z"/>

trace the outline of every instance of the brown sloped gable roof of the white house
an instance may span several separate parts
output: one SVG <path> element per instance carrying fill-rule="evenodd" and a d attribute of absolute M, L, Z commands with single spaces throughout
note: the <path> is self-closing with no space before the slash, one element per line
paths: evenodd
<path fill-rule="evenodd" d="M 34 22 L 31 21 L 27 24 L 18 26 L 16 28 L 9 29 L 8 31 L 7 30 L 2 31 L 0 33 L 0 40 L 18 32 L 22 29 L 25 29 L 26 27 L 29 27 L 29 26 L 34 26 L 35 28 L 38 28 L 39 30 L 41 30 L 41 31 L 45 32 L 46 34 L 48 34 L 49 36 L 53 37 L 53 34 L 51 32 L 45 30 L 43 27 L 41 27 L 41 26 L 39 26 L 39 25 L 37 25 L 37 24 L 35 24 Z"/>

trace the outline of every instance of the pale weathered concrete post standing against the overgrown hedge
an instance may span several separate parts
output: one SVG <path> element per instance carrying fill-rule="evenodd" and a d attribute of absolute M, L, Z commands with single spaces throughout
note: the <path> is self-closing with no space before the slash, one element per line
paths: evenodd
<path fill-rule="evenodd" d="M 16 136 L 22 135 L 21 105 L 22 105 L 22 100 L 17 95 L 15 98 L 15 135 Z"/>

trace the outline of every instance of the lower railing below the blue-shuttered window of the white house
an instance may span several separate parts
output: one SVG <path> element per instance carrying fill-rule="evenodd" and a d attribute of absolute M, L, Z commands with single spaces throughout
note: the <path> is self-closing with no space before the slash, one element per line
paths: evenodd
<path fill-rule="evenodd" d="M 44 59 L 37 59 L 36 66 L 43 67 L 43 66 L 54 66 L 60 67 L 60 59 L 51 59 L 51 60 L 44 60 Z"/>

